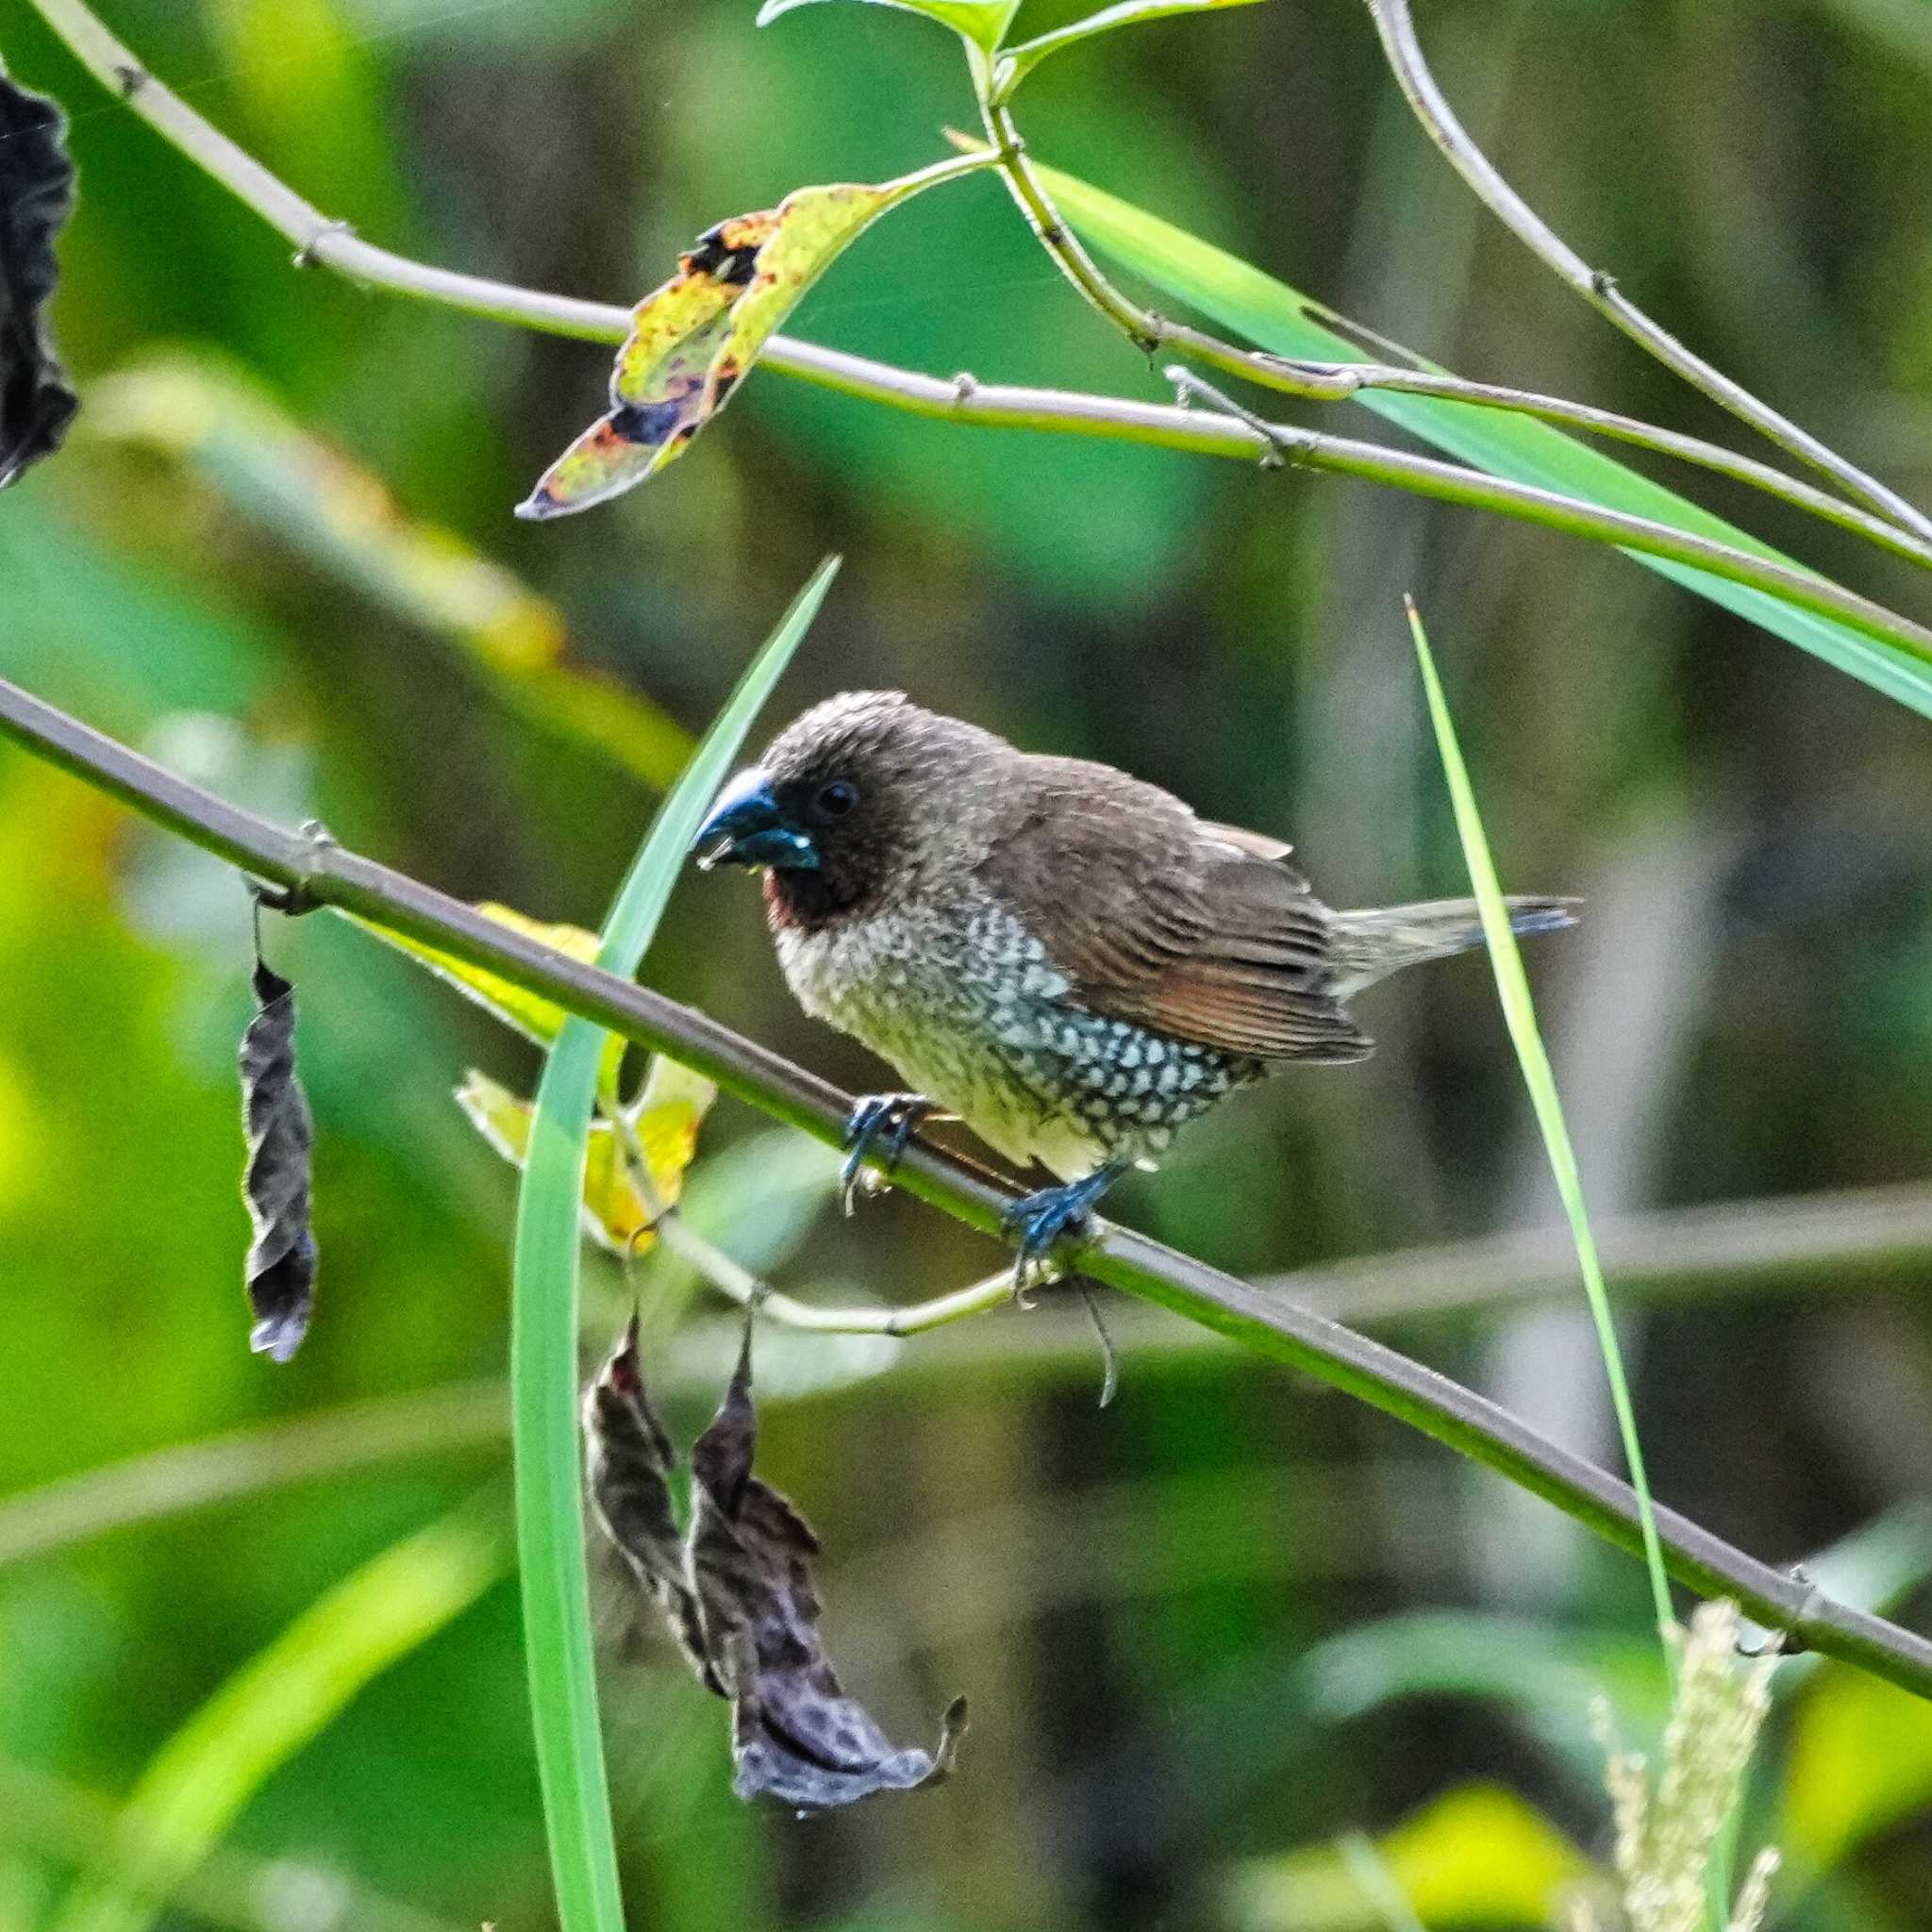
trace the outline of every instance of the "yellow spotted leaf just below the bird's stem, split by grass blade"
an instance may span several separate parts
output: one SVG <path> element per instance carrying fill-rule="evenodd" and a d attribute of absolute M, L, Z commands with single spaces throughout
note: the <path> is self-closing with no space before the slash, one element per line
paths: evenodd
<path fill-rule="evenodd" d="M 583 1233 L 612 1254 L 643 1254 L 657 1238 L 649 1229 L 684 1192 L 684 1171 L 697 1151 L 697 1128 L 717 1088 L 676 1061 L 655 1059 L 638 1101 L 614 1121 L 593 1121 L 583 1165 Z M 469 1072 L 456 1105 L 477 1132 L 516 1167 L 529 1153 L 531 1103 L 487 1074 Z M 638 1182 L 626 1140 L 643 1155 L 649 1188 Z M 636 1244 L 636 1246 L 632 1246 Z"/>

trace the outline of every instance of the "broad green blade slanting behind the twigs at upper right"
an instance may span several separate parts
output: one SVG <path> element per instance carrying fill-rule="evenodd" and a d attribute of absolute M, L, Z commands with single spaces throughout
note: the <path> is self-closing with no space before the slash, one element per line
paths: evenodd
<path fill-rule="evenodd" d="M 1310 301 L 1287 282 L 1279 282 L 1238 257 L 1211 247 L 1115 195 L 1101 193 L 1070 174 L 1061 174 L 1057 168 L 1037 168 L 1037 172 L 1047 182 L 1061 213 L 1094 247 L 1146 276 L 1219 327 L 1231 328 L 1277 355 L 1312 361 L 1374 359 L 1366 357 L 1356 342 L 1318 321 L 1320 315 L 1333 311 Z M 1341 321 L 1341 317 L 1335 319 Z M 1611 510 L 1648 516 L 1692 535 L 1737 545 L 1737 549 L 1756 556 L 1791 562 L 1737 526 L 1700 510 L 1675 491 L 1640 477 L 1615 458 L 1578 442 L 1549 423 L 1538 423 L 1509 410 L 1443 402 L 1437 396 L 1362 390 L 1354 400 L 1490 475 L 1513 477 L 1519 483 L 1534 483 L 1569 497 L 1584 497 Z M 1642 554 L 1636 554 L 1636 562 L 1700 597 L 1708 597 L 1725 611 L 1735 611 L 1787 643 L 1822 657 L 1828 665 L 1870 684 L 1872 690 L 1884 692 L 1888 697 L 1895 697 L 1922 717 L 1932 717 L 1932 667 L 1918 663 L 1909 653 L 1866 638 L 1847 624 L 1799 611 L 1770 591 L 1714 578 L 1690 564 Z"/>

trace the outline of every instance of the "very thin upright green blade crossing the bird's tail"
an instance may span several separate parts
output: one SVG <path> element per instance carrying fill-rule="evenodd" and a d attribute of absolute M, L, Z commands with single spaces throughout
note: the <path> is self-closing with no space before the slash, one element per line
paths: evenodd
<path fill-rule="evenodd" d="M 1509 1039 L 1522 1066 L 1522 1084 L 1530 1090 L 1530 1107 L 1544 1136 L 1544 1151 L 1549 1155 L 1549 1173 L 1555 1179 L 1557 1194 L 1563 1198 L 1563 1211 L 1569 1215 L 1571 1238 L 1577 1242 L 1577 1265 L 1582 1269 L 1584 1294 L 1590 1298 L 1590 1320 L 1596 1323 L 1598 1349 L 1604 1352 L 1609 1401 L 1617 1410 L 1617 1430 L 1623 1435 L 1623 1459 L 1631 1470 L 1631 1488 L 1636 1492 L 1636 1515 L 1644 1530 L 1644 1565 L 1650 1571 L 1650 1594 L 1656 1602 L 1658 1629 L 1662 1633 L 1673 1621 L 1671 1580 L 1663 1569 L 1658 1513 L 1652 1507 L 1650 1482 L 1644 1476 L 1644 1449 L 1636 1439 L 1636 1414 L 1631 1408 L 1631 1389 L 1623 1374 L 1623 1350 L 1617 1347 L 1617 1325 L 1609 1314 L 1609 1291 L 1604 1287 L 1604 1269 L 1596 1258 L 1596 1236 L 1590 1233 L 1590 1213 L 1582 1200 L 1582 1175 L 1577 1171 L 1577 1151 L 1571 1148 L 1569 1126 L 1563 1122 L 1557 1076 L 1549 1066 L 1549 1055 L 1544 1051 L 1544 1036 L 1536 1026 L 1530 981 L 1522 972 L 1522 954 L 1517 951 L 1509 908 L 1503 904 L 1503 887 L 1495 877 L 1495 860 L 1490 856 L 1490 840 L 1482 831 L 1476 792 L 1468 782 L 1468 769 L 1463 763 L 1455 724 L 1449 721 L 1449 705 L 1443 699 L 1441 680 L 1435 676 L 1435 659 L 1430 655 L 1430 641 L 1422 634 L 1422 618 L 1416 614 L 1414 605 L 1408 607 L 1408 628 L 1416 639 L 1416 663 L 1422 667 L 1422 688 L 1430 701 L 1430 723 L 1435 726 L 1435 748 L 1441 753 L 1443 777 L 1449 781 L 1455 829 L 1463 840 L 1463 858 L 1468 864 L 1470 885 L 1476 889 L 1476 906 L 1482 912 L 1482 937 L 1490 947 L 1490 966 L 1495 970 L 1495 991 L 1503 1003 L 1503 1020 L 1509 1024 Z M 1671 1652 L 1665 1646 L 1665 1658 L 1669 1656 Z"/>

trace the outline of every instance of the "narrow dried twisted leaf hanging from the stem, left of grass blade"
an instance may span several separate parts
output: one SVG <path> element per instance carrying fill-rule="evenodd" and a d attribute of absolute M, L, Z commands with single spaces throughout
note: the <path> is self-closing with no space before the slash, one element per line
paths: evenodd
<path fill-rule="evenodd" d="M 315 1124 L 296 1078 L 296 991 L 255 960 L 255 1018 L 242 1034 L 242 1130 L 247 1163 L 242 1198 L 255 1238 L 247 1296 L 255 1327 L 247 1345 L 286 1362 L 309 1331 L 315 1302 L 315 1231 L 309 1227 L 309 1155 Z"/>

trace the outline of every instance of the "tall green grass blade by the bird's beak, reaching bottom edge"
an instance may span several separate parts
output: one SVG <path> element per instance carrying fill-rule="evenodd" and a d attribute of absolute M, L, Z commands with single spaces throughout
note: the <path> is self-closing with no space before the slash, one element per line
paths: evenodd
<path fill-rule="evenodd" d="M 605 923 L 597 962 L 611 972 L 638 970 L 705 808 L 837 568 L 838 558 L 827 558 L 798 593 L 651 821 Z M 578 1453 L 578 1215 L 607 1037 L 601 1026 L 570 1020 L 545 1061 L 518 1194 L 510 1302 L 524 1648 L 562 1932 L 624 1932 L 597 1725 Z"/>

